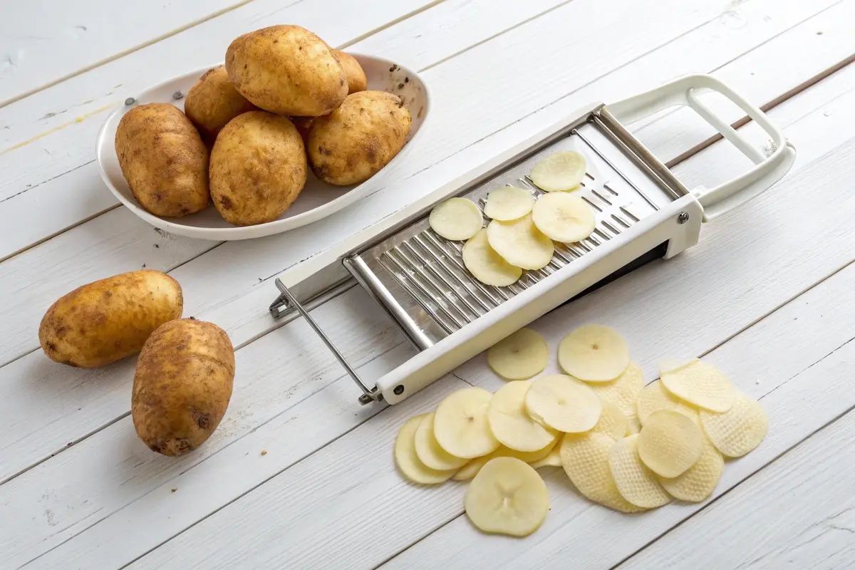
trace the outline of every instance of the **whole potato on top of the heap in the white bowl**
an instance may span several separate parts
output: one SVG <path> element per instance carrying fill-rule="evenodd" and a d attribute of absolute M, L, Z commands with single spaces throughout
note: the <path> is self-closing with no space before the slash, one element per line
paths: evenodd
<path fill-rule="evenodd" d="M 300 26 L 270 26 L 240 36 L 228 46 L 226 69 L 241 95 L 279 115 L 326 115 L 347 96 L 338 56 Z"/>

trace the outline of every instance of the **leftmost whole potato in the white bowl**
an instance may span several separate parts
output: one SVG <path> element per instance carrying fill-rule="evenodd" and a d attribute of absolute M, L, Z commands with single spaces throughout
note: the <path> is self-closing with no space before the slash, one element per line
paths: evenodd
<path fill-rule="evenodd" d="M 208 148 L 173 105 L 128 111 L 115 132 L 115 154 L 133 197 L 151 214 L 180 217 L 208 205 Z"/>

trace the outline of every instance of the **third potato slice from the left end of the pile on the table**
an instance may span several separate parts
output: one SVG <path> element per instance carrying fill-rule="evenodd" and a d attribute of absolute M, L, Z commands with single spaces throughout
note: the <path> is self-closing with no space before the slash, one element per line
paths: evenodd
<path fill-rule="evenodd" d="M 451 392 L 433 415 L 433 435 L 439 447 L 456 457 L 480 457 L 498 449 L 487 420 L 492 394 L 483 388 Z"/>

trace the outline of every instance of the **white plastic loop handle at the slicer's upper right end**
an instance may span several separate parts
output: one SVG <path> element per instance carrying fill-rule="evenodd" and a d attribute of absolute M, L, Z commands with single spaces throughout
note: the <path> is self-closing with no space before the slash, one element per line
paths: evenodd
<path fill-rule="evenodd" d="M 772 139 L 773 152 L 765 156 L 761 150 L 752 146 L 727 121 L 712 112 L 699 99 L 699 91 L 711 89 L 718 91 L 724 97 L 746 112 Z M 796 151 L 783 132 L 763 111 L 748 103 L 733 89 L 711 75 L 687 75 L 670 83 L 660 85 L 651 91 L 628 97 L 606 107 L 610 114 L 623 125 L 628 125 L 646 116 L 653 115 L 663 109 L 685 105 L 694 109 L 702 119 L 706 120 L 716 131 L 727 138 L 730 143 L 742 151 L 754 163 L 754 167 L 734 179 L 706 190 L 695 189 L 693 192 L 699 203 L 704 207 L 704 221 L 714 220 L 721 214 L 746 203 L 753 197 L 763 193 L 769 186 L 783 178 L 795 162 Z"/>

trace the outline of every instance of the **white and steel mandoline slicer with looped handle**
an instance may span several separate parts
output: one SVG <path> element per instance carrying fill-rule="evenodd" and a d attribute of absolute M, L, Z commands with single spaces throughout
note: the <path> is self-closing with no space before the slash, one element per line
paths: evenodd
<path fill-rule="evenodd" d="M 772 140 L 769 156 L 699 100 L 699 91 L 708 89 L 728 97 L 764 128 Z M 675 105 L 694 109 L 754 166 L 716 188 L 688 190 L 623 126 Z M 431 209 L 450 197 L 468 197 L 483 208 L 487 193 L 501 185 L 538 195 L 528 179 L 534 163 L 569 149 L 587 160 L 587 177 L 577 194 L 596 214 L 593 234 L 575 244 L 557 244 L 547 267 L 523 273 L 515 285 L 482 285 L 463 267 L 462 244 L 431 231 Z M 702 221 L 758 196 L 794 160 L 793 145 L 781 131 L 727 85 L 708 75 L 676 79 L 570 115 L 345 244 L 292 267 L 276 279 L 281 295 L 270 312 L 276 318 L 302 315 L 363 391 L 361 403 L 398 403 L 583 291 L 693 246 Z M 308 313 L 357 284 L 419 351 L 376 385 L 359 377 Z"/>

